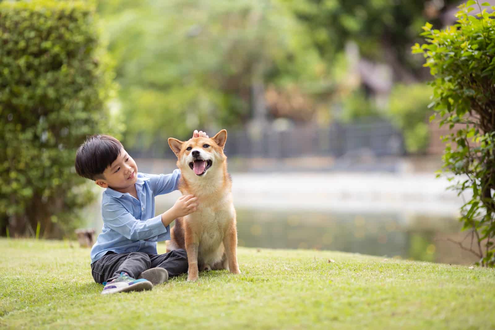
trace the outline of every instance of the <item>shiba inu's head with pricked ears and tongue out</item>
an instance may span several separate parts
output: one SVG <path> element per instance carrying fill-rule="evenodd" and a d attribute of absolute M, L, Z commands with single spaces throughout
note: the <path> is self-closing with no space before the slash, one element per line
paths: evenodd
<path fill-rule="evenodd" d="M 190 170 L 202 176 L 211 168 L 219 168 L 227 159 L 223 147 L 227 141 L 227 131 L 222 129 L 212 138 L 193 137 L 188 141 L 179 141 L 170 137 L 168 145 L 177 156 L 177 166 L 184 171 Z M 189 175 L 187 175 L 189 176 Z"/>

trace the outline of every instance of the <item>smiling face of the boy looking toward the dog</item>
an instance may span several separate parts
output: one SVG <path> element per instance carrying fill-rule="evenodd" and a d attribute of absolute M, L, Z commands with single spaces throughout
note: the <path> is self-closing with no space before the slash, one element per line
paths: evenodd
<path fill-rule="evenodd" d="M 127 192 L 138 179 L 138 165 L 127 154 L 124 148 L 113 163 L 103 171 L 104 179 L 97 179 L 95 183 L 102 188 L 110 187 L 113 190 Z"/>

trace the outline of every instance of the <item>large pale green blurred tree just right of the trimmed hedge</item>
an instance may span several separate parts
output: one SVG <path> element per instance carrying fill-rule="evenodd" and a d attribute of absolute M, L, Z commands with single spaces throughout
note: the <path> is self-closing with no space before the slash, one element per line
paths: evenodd
<path fill-rule="evenodd" d="M 244 123 L 256 82 L 275 105 L 294 90 L 305 100 L 327 88 L 329 69 L 309 31 L 277 1 L 105 0 L 99 12 L 117 63 L 126 144 Z M 296 119 L 314 113 L 304 101 L 274 109 Z"/>

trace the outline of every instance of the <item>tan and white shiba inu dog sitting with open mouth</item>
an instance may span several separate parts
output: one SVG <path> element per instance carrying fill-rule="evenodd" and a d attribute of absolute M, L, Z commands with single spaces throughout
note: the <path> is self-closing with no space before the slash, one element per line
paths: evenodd
<path fill-rule="evenodd" d="M 237 263 L 236 210 L 232 203 L 232 180 L 223 153 L 227 131 L 212 138 L 189 141 L 168 139 L 181 170 L 179 190 L 198 198 L 198 209 L 177 218 L 167 242 L 167 252 L 185 248 L 188 255 L 188 281 L 198 279 L 198 270 L 228 269 L 239 274 Z"/>

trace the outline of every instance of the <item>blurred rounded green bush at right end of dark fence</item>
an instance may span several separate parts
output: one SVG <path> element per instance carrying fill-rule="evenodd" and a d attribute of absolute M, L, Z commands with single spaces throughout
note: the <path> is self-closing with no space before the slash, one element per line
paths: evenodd
<path fill-rule="evenodd" d="M 388 117 L 402 131 L 408 153 L 425 152 L 428 147 L 431 94 L 432 87 L 425 84 L 398 84 L 392 89 Z"/>

